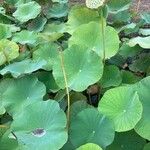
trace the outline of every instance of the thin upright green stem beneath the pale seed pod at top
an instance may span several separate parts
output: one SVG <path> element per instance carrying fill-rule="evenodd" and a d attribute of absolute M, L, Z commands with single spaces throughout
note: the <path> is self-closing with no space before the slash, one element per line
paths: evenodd
<path fill-rule="evenodd" d="M 102 31 L 102 43 L 103 43 L 103 63 L 105 64 L 105 57 L 106 57 L 106 47 L 105 47 L 105 28 L 104 28 L 104 15 L 103 9 L 101 9 L 101 31 Z"/>

